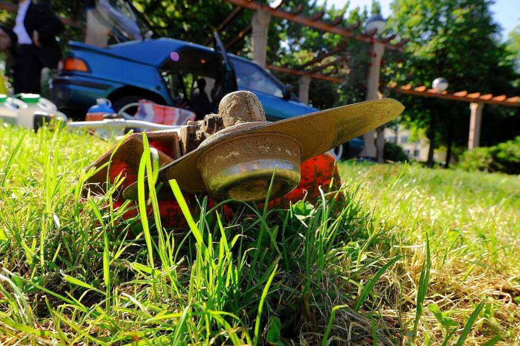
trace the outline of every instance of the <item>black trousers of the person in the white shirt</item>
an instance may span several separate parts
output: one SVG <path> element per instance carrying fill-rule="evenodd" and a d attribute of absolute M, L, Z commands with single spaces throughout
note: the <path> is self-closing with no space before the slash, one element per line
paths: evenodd
<path fill-rule="evenodd" d="M 18 45 L 13 75 L 15 94 L 21 92 L 40 94 L 43 67 L 38 47 L 35 45 Z"/>

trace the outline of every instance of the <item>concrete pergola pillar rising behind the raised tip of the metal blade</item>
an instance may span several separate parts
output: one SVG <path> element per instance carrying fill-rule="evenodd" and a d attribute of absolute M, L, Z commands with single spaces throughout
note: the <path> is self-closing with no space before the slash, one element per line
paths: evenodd
<path fill-rule="evenodd" d="M 370 55 L 370 66 L 368 70 L 368 81 L 367 81 L 367 97 L 366 100 L 375 100 L 378 98 L 379 90 L 379 75 L 381 73 L 381 58 L 385 51 L 385 46 L 382 43 L 374 42 L 371 49 Z M 383 136 L 383 131 L 380 132 Z M 374 144 L 375 130 L 367 132 L 363 135 L 365 140 L 365 148 L 359 154 L 360 156 L 376 157 L 376 148 Z M 384 147 L 384 137 L 378 141 Z M 382 149 L 381 149 L 382 150 Z"/>

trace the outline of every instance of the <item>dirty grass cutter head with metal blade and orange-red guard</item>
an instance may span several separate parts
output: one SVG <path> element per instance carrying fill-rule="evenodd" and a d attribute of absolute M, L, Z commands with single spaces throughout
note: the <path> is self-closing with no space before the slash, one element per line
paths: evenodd
<path fill-rule="evenodd" d="M 339 183 L 334 157 L 327 152 L 387 123 L 402 110 L 396 100 L 379 99 L 269 123 L 255 94 L 232 92 L 220 101 L 218 114 L 147 132 L 160 167 L 156 189 L 161 218 L 172 227 L 178 224 L 171 179 L 185 194 L 206 193 L 213 201 L 264 202 L 270 193 L 271 203 L 284 204 L 317 196 L 319 187 Z M 85 192 L 106 193 L 116 177 L 124 177 L 115 193 L 116 205 L 125 199 L 136 201 L 143 152 L 141 134 L 126 137 L 87 167 L 95 174 Z"/>

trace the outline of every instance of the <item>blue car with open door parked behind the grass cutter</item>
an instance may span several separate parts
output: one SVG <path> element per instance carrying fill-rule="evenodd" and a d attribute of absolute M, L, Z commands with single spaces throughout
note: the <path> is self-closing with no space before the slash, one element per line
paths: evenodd
<path fill-rule="evenodd" d="M 256 62 L 171 38 L 144 39 L 98 48 L 69 43 L 51 98 L 73 117 L 84 116 L 97 98 L 118 110 L 139 99 L 190 109 L 203 117 L 216 112 L 228 92 L 254 92 L 270 121 L 317 111 L 300 102 Z"/>

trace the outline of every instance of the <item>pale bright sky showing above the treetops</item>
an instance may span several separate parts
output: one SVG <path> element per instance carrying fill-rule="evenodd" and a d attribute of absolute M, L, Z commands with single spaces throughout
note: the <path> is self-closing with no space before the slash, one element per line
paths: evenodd
<path fill-rule="evenodd" d="M 420 1 L 420 0 L 418 0 Z M 323 3 L 324 0 L 318 0 L 318 3 Z M 383 17 L 391 16 L 390 3 L 392 0 L 379 0 Z M 335 5 L 336 8 L 342 8 L 347 3 L 347 0 L 328 0 L 329 5 Z M 370 10 L 372 0 L 350 0 L 349 9 L 356 7 L 367 6 Z M 507 39 L 508 34 L 513 28 L 520 24 L 520 7 L 519 0 L 495 0 L 495 4 L 491 6 L 495 21 L 502 27 L 502 39 Z"/>

